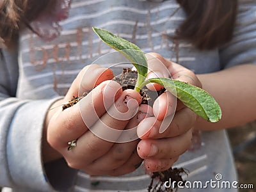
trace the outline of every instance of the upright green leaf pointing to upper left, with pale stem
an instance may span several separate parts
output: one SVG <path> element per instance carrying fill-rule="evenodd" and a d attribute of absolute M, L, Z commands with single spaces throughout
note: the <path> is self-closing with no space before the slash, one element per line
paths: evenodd
<path fill-rule="evenodd" d="M 136 84 L 136 90 L 140 92 L 140 84 L 143 83 L 147 77 L 148 65 L 147 58 L 140 47 L 132 44 L 131 42 L 114 35 L 106 29 L 100 29 L 93 27 L 93 31 L 99 36 L 99 38 L 112 47 L 113 49 L 122 52 L 124 56 L 131 61 L 132 65 L 136 67 L 138 71 L 138 80 Z"/>

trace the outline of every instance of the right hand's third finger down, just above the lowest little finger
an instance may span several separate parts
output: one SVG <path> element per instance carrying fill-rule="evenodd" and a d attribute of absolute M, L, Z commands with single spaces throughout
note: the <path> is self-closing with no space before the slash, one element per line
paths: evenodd
<path fill-rule="evenodd" d="M 168 159 L 180 156 L 190 147 L 191 139 L 192 131 L 189 129 L 186 133 L 174 138 L 141 140 L 138 143 L 138 155 L 142 159 Z"/>

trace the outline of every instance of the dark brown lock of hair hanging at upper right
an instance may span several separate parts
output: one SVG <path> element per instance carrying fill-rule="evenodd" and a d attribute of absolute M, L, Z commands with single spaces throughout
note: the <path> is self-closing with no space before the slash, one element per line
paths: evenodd
<path fill-rule="evenodd" d="M 177 0 L 187 19 L 176 39 L 188 40 L 198 49 L 214 49 L 230 41 L 237 15 L 237 0 Z"/>

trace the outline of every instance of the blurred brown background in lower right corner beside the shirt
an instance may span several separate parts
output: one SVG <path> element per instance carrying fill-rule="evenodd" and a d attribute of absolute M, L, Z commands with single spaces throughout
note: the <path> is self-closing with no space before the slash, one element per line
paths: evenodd
<path fill-rule="evenodd" d="M 239 192 L 256 192 L 256 121 L 228 129 L 240 184 L 253 184 L 254 189 Z"/>

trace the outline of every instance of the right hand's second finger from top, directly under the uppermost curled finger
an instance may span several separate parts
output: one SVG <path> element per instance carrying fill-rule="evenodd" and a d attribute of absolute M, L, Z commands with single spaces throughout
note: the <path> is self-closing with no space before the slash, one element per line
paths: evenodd
<path fill-rule="evenodd" d="M 156 120 L 156 118 L 146 118 L 138 125 L 137 133 L 142 139 L 148 138 L 172 138 L 187 132 L 196 121 L 196 114 L 189 108 L 180 109 L 172 116 L 164 118 L 164 120 Z M 164 132 L 159 132 L 164 130 Z"/>

